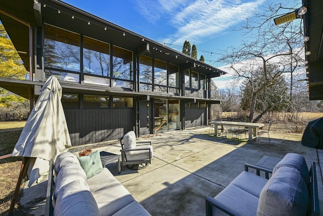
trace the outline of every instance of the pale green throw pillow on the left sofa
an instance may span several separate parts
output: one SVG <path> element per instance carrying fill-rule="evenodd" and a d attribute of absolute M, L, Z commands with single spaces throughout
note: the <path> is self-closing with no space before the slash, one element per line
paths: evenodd
<path fill-rule="evenodd" d="M 82 168 L 85 171 L 86 178 L 91 178 L 102 171 L 100 152 L 95 151 L 89 155 L 78 157 Z"/>

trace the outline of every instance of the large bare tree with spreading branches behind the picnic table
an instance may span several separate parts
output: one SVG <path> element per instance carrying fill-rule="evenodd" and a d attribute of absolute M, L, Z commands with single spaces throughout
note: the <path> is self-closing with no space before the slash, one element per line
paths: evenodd
<path fill-rule="evenodd" d="M 301 64 L 303 35 L 299 22 L 288 22 L 275 26 L 274 18 L 287 8 L 282 4 L 269 5 L 263 13 L 255 13 L 241 26 L 246 40 L 237 48 L 229 48 L 220 61 L 229 65 L 230 72 L 251 85 L 252 94 L 248 120 L 254 120 L 258 95 L 275 84 L 283 74 L 290 74 L 291 92 L 292 74 Z M 295 9 L 290 9 L 290 11 Z M 275 70 L 268 70 L 275 66 Z M 259 78 L 255 78 L 260 74 Z M 292 96 L 292 93 L 290 93 Z"/>

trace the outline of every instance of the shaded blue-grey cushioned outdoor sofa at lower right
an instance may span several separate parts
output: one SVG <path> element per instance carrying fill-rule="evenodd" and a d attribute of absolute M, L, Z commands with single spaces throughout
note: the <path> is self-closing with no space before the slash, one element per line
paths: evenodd
<path fill-rule="evenodd" d="M 248 166 L 272 173 L 267 180 Z M 273 170 L 246 164 L 216 197 L 206 197 L 206 215 L 319 215 L 315 162 L 288 153 Z"/>

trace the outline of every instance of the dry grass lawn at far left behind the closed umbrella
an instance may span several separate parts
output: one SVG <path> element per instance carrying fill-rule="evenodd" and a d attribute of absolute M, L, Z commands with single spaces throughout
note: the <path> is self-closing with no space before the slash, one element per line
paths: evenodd
<path fill-rule="evenodd" d="M 11 154 L 26 121 L 0 122 L 0 156 Z M 0 215 L 7 215 L 18 181 L 22 157 L 0 160 Z M 18 205 L 16 204 L 15 208 Z"/>

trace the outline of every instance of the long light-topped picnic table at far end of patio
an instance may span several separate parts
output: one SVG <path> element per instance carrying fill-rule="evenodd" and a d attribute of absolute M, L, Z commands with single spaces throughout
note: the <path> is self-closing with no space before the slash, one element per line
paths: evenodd
<path fill-rule="evenodd" d="M 210 124 L 214 124 L 214 136 L 218 135 L 218 126 L 221 126 L 222 131 L 224 129 L 224 125 L 231 126 L 244 126 L 248 128 L 248 140 L 252 141 L 257 137 L 257 130 L 260 127 L 263 127 L 263 123 L 250 123 L 250 122 L 236 122 L 236 121 L 210 121 Z"/>

